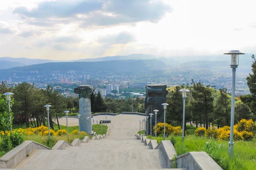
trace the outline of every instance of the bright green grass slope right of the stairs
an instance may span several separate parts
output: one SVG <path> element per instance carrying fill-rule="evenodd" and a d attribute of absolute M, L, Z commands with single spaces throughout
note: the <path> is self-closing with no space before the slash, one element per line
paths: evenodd
<path fill-rule="evenodd" d="M 148 136 L 155 139 L 153 136 Z M 160 143 L 163 136 L 156 138 Z M 177 155 L 193 151 L 205 151 L 224 170 L 253 170 L 256 169 L 256 139 L 251 142 L 235 141 L 234 156 L 228 156 L 228 142 L 220 140 L 210 140 L 206 137 L 187 135 L 184 140 L 181 136 L 169 136 L 166 140 L 171 140 Z"/>

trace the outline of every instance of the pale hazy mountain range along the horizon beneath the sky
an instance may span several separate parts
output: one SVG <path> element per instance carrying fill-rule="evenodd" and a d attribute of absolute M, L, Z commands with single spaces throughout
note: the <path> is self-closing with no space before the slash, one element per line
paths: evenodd
<path fill-rule="evenodd" d="M 244 54 L 240 56 L 239 68 L 250 68 L 252 54 Z M 221 68 L 226 67 L 229 64 L 230 57 L 227 55 L 208 55 L 208 56 L 182 56 L 182 57 L 163 57 L 147 54 L 131 54 L 127 56 L 107 56 L 93 59 L 78 59 L 70 61 L 60 60 L 49 60 L 49 59 L 29 59 L 29 58 L 12 58 L 12 57 L 1 57 L 0 58 L 0 69 L 14 68 L 19 66 L 36 65 L 43 63 L 53 62 L 65 62 L 73 65 L 78 62 L 107 62 L 107 61 L 128 61 L 128 60 L 151 60 L 159 61 L 164 63 L 166 67 L 173 67 L 177 65 L 188 65 L 194 67 L 203 68 Z M 73 62 L 72 64 L 70 62 Z M 62 65 L 62 64 L 61 64 Z M 79 65 L 79 64 L 78 64 Z M 152 65 L 154 67 L 154 65 Z"/>

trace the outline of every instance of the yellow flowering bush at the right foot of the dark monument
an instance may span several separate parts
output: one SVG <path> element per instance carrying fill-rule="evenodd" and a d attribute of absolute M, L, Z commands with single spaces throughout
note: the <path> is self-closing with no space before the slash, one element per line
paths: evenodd
<path fill-rule="evenodd" d="M 163 128 L 164 123 L 157 123 L 157 135 L 163 134 Z M 155 126 L 153 127 L 153 131 L 155 131 Z M 171 134 L 174 135 L 181 135 L 182 134 L 182 129 L 180 126 L 173 127 L 172 125 L 166 123 L 166 136 L 169 136 Z"/>

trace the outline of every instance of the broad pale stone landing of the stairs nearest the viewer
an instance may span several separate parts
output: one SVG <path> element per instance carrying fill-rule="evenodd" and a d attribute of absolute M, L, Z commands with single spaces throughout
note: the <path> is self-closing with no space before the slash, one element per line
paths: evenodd
<path fill-rule="evenodd" d="M 34 150 L 17 169 L 162 169 L 161 150 Z"/>

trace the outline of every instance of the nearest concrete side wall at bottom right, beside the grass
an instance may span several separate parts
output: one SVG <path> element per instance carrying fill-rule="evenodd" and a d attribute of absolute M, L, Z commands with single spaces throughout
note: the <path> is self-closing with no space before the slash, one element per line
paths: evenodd
<path fill-rule="evenodd" d="M 223 170 L 206 152 L 188 152 L 171 159 L 171 166 L 176 161 L 177 168 L 187 170 Z"/>

